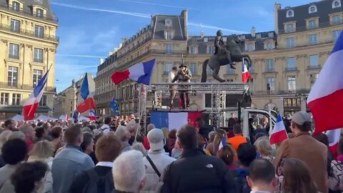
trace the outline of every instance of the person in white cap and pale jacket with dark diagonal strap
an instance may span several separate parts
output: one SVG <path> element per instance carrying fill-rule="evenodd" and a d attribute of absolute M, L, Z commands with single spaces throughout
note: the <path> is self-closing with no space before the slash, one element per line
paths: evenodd
<path fill-rule="evenodd" d="M 176 159 L 169 157 L 164 152 L 164 134 L 161 129 L 151 129 L 148 133 L 150 149 L 148 155 L 144 157 L 146 166 L 146 184 L 141 192 L 158 192 L 161 187 L 161 176 L 164 169 Z"/>

